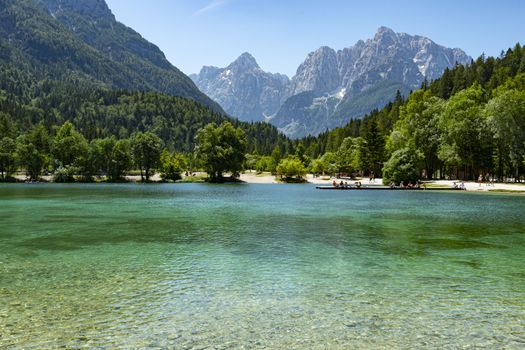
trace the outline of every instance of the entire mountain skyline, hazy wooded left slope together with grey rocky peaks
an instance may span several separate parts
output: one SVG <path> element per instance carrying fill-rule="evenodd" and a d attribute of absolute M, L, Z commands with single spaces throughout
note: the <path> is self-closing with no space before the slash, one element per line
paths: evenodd
<path fill-rule="evenodd" d="M 291 79 L 265 72 L 249 53 L 190 79 L 118 22 L 104 0 L 0 2 L 0 71 L 14 67 L 37 81 L 187 97 L 243 121 L 270 122 L 292 138 L 342 126 L 398 90 L 407 94 L 470 60 L 460 49 L 381 27 L 352 47 L 310 53 Z"/>

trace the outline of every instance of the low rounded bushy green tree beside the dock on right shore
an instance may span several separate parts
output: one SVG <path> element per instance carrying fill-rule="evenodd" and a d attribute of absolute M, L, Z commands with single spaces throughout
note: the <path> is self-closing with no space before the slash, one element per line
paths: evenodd
<path fill-rule="evenodd" d="M 383 167 L 383 184 L 417 183 L 422 162 L 423 154 L 412 145 L 395 151 Z"/>

